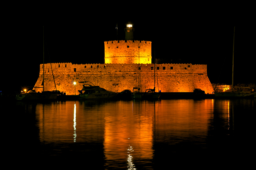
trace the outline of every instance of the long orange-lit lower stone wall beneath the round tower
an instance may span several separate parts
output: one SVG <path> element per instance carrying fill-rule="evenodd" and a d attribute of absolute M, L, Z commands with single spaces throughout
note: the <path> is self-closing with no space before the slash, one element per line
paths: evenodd
<path fill-rule="evenodd" d="M 57 90 L 67 95 L 75 94 L 83 83 L 90 81 L 106 90 L 121 92 L 140 87 L 141 91 L 156 87 L 161 92 L 193 92 L 200 88 L 211 94 L 213 87 L 207 76 L 207 65 L 192 64 L 72 64 L 52 63 Z M 42 87 L 43 65 L 35 87 Z M 34 88 L 36 91 L 41 88 Z M 45 91 L 55 90 L 51 65 L 45 64 Z"/>

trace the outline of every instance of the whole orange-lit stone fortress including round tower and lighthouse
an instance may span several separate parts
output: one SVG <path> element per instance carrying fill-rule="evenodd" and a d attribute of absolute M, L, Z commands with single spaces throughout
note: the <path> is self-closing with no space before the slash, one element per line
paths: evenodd
<path fill-rule="evenodd" d="M 83 88 L 84 81 L 114 92 L 133 88 L 144 92 L 154 87 L 156 92 L 193 92 L 195 88 L 206 94 L 214 91 L 207 76 L 207 65 L 152 64 L 152 42 L 133 40 L 133 32 L 132 25 L 127 24 L 125 40 L 104 42 L 104 64 L 47 63 L 44 69 L 40 64 L 34 90 L 42 90 L 36 87 L 42 87 L 44 70 L 44 90 L 56 90 L 56 84 L 57 90 L 67 95 L 78 95 L 77 90 Z"/>

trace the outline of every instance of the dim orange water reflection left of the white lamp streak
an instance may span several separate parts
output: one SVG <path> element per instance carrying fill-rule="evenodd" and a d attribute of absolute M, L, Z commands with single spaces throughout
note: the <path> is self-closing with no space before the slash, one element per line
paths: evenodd
<path fill-rule="evenodd" d="M 41 142 L 70 142 L 74 140 L 74 102 L 72 104 L 38 104 L 37 126 Z"/>

